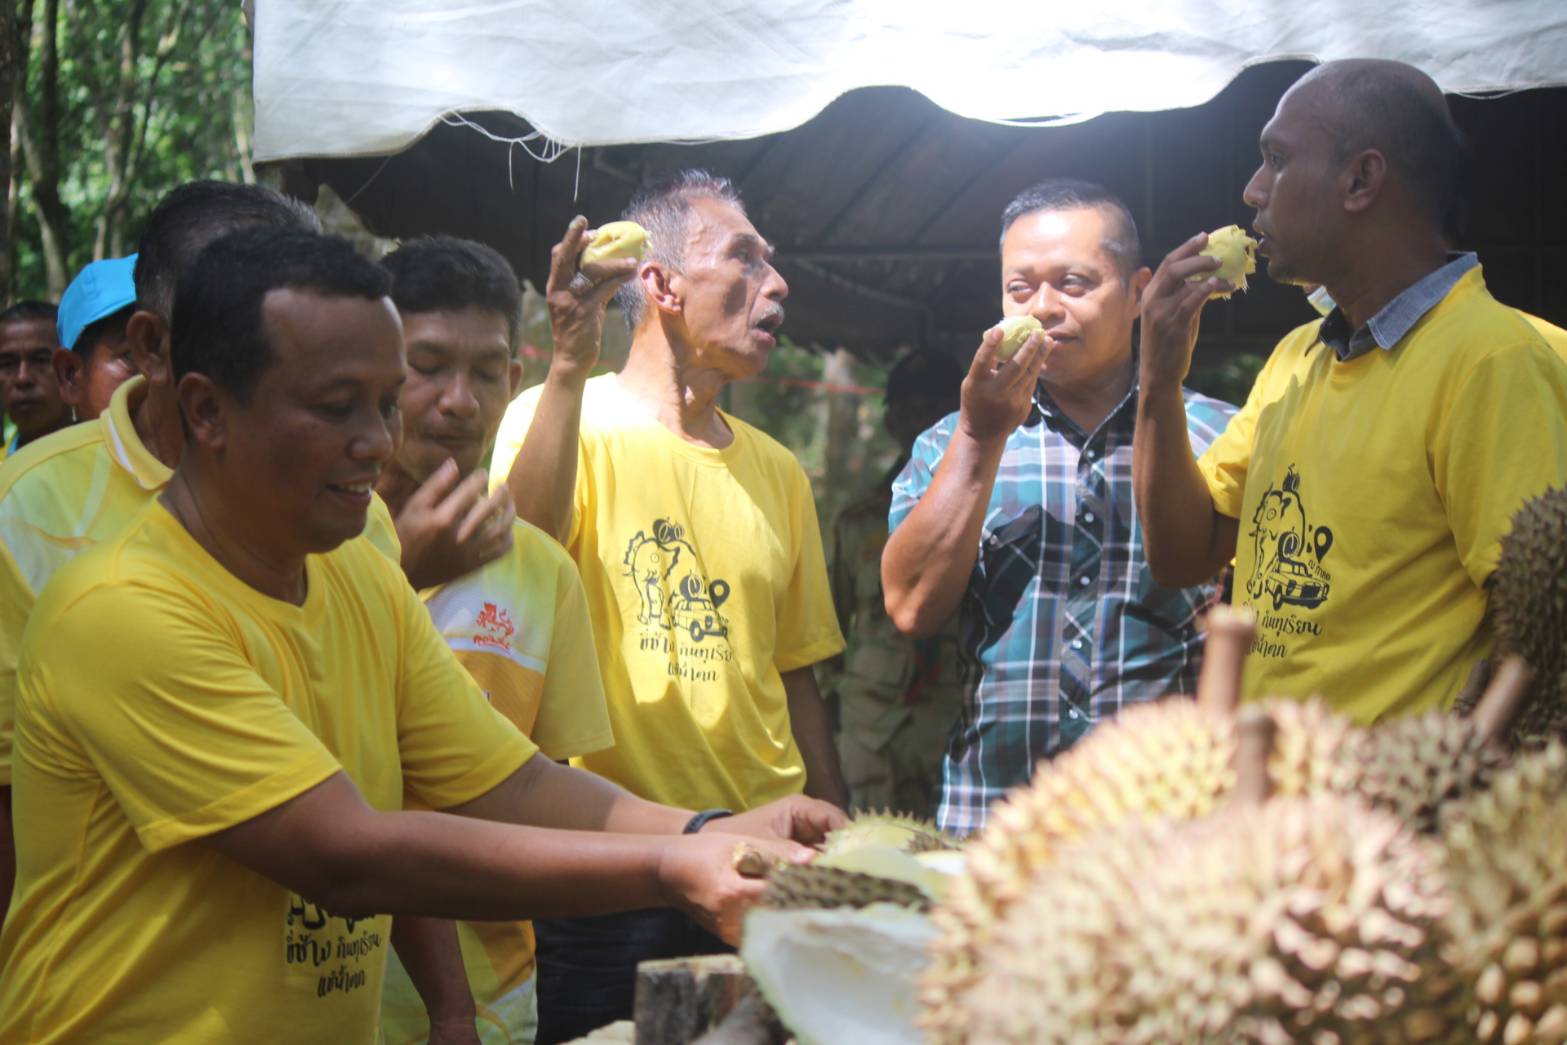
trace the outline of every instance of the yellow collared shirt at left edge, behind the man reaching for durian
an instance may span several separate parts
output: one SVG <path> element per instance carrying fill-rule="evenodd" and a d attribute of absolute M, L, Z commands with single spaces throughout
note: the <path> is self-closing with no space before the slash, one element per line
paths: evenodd
<path fill-rule="evenodd" d="M 146 384 L 132 378 L 97 420 L 44 436 L 0 465 L 0 785 L 11 782 L 16 661 L 38 592 L 66 562 L 124 530 L 172 475 L 132 423 Z M 396 530 L 379 497 L 365 536 L 398 561 Z"/>

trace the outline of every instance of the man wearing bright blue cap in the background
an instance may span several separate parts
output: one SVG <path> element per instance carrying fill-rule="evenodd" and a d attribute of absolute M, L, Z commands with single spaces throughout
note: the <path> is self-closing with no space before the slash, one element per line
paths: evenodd
<path fill-rule="evenodd" d="M 114 389 L 136 373 L 125 340 L 125 324 L 136 310 L 135 269 L 135 254 L 92 262 L 60 298 L 55 379 L 78 421 L 107 410 Z"/>

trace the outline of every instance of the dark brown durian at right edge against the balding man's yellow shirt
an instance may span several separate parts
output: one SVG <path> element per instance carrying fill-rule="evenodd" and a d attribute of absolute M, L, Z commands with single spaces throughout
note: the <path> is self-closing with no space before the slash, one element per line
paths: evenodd
<path fill-rule="evenodd" d="M 1492 584 L 1496 652 L 1520 653 L 1536 672 L 1514 733 L 1561 736 L 1567 733 L 1567 489 L 1518 508 Z"/>

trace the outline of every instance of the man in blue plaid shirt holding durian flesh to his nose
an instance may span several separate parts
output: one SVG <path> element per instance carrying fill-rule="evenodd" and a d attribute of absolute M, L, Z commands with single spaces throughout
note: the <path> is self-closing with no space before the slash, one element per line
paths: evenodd
<path fill-rule="evenodd" d="M 1044 334 L 1003 360 L 989 331 L 961 409 L 920 437 L 893 484 L 887 613 L 915 636 L 961 614 L 946 830 L 979 830 L 1034 763 L 1124 705 L 1196 688 L 1197 613 L 1213 591 L 1153 581 L 1131 500 L 1131 331 L 1150 276 L 1108 190 L 1059 179 L 1023 191 L 1001 215 L 1001 312 Z M 1185 396 L 1202 453 L 1235 407 Z"/>

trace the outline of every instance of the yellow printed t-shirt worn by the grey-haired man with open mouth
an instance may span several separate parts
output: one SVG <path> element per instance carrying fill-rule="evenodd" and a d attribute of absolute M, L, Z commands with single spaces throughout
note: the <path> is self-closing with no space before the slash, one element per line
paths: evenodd
<path fill-rule="evenodd" d="M 506 412 L 505 481 L 539 392 Z M 843 649 L 810 481 L 724 414 L 733 442 L 694 447 L 619 389 L 583 395 L 566 550 L 588 592 L 614 747 L 574 758 L 642 797 L 754 808 L 805 785 L 779 672 Z"/>

